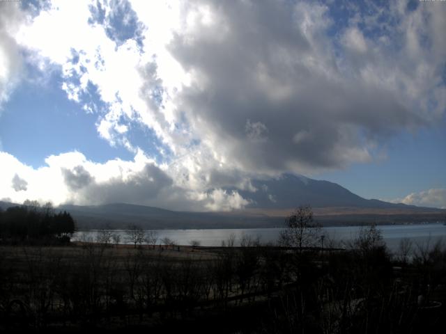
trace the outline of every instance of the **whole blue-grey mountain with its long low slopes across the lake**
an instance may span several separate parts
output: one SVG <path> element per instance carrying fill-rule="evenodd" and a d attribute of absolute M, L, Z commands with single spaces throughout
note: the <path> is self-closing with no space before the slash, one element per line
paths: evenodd
<path fill-rule="evenodd" d="M 256 191 L 237 190 L 250 201 L 236 212 L 176 212 L 157 207 L 113 203 L 106 205 L 61 205 L 72 214 L 79 229 L 126 228 L 137 224 L 147 229 L 266 228 L 282 227 L 284 217 L 299 205 L 309 204 L 324 225 L 443 221 L 446 210 L 367 200 L 339 184 L 298 175 L 271 180 L 252 180 Z M 0 202 L 6 209 L 15 204 Z"/>

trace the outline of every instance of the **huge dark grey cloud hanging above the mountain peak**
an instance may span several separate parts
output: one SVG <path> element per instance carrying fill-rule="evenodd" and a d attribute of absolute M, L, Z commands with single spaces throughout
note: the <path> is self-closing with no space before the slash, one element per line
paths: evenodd
<path fill-rule="evenodd" d="M 194 3 L 209 5 L 217 19 L 210 26 L 197 19 L 193 33 L 171 42 L 195 74 L 178 105 L 244 170 L 305 173 L 370 161 L 389 136 L 427 123 L 408 89 L 385 83 L 401 71 L 390 48 L 355 29 L 332 41 L 324 6 Z"/>

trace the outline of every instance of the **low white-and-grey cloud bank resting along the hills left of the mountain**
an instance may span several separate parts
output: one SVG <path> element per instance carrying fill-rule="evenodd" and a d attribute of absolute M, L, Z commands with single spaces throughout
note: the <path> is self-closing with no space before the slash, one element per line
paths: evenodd
<path fill-rule="evenodd" d="M 0 152 L 0 164 L 6 166 L 0 177 L 0 198 L 13 202 L 33 198 L 55 205 L 128 202 L 190 211 L 229 211 L 249 203 L 237 191 L 177 186 L 166 170 L 141 151 L 133 161 L 114 159 L 98 164 L 82 153 L 68 152 L 52 155 L 45 162 L 45 166 L 32 168 Z"/>

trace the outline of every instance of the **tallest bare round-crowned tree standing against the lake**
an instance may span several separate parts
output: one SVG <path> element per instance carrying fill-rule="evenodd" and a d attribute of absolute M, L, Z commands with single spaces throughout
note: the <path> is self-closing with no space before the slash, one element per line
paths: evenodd
<path fill-rule="evenodd" d="M 284 246 L 316 246 L 321 240 L 321 225 L 314 222 L 312 207 L 303 205 L 286 217 L 286 228 L 280 231 L 280 242 Z"/>

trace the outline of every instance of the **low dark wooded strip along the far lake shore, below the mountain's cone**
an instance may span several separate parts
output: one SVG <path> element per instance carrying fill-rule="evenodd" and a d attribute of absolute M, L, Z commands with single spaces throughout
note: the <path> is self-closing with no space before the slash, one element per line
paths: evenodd
<path fill-rule="evenodd" d="M 127 228 L 137 224 L 142 228 L 272 228 L 283 227 L 288 209 L 247 209 L 238 212 L 175 212 L 156 207 L 123 203 L 77 206 L 63 205 L 77 221 L 80 230 L 90 228 Z M 360 225 L 364 223 L 420 223 L 443 221 L 446 210 L 417 207 L 396 209 L 361 207 L 315 208 L 315 219 L 323 225 Z"/>

